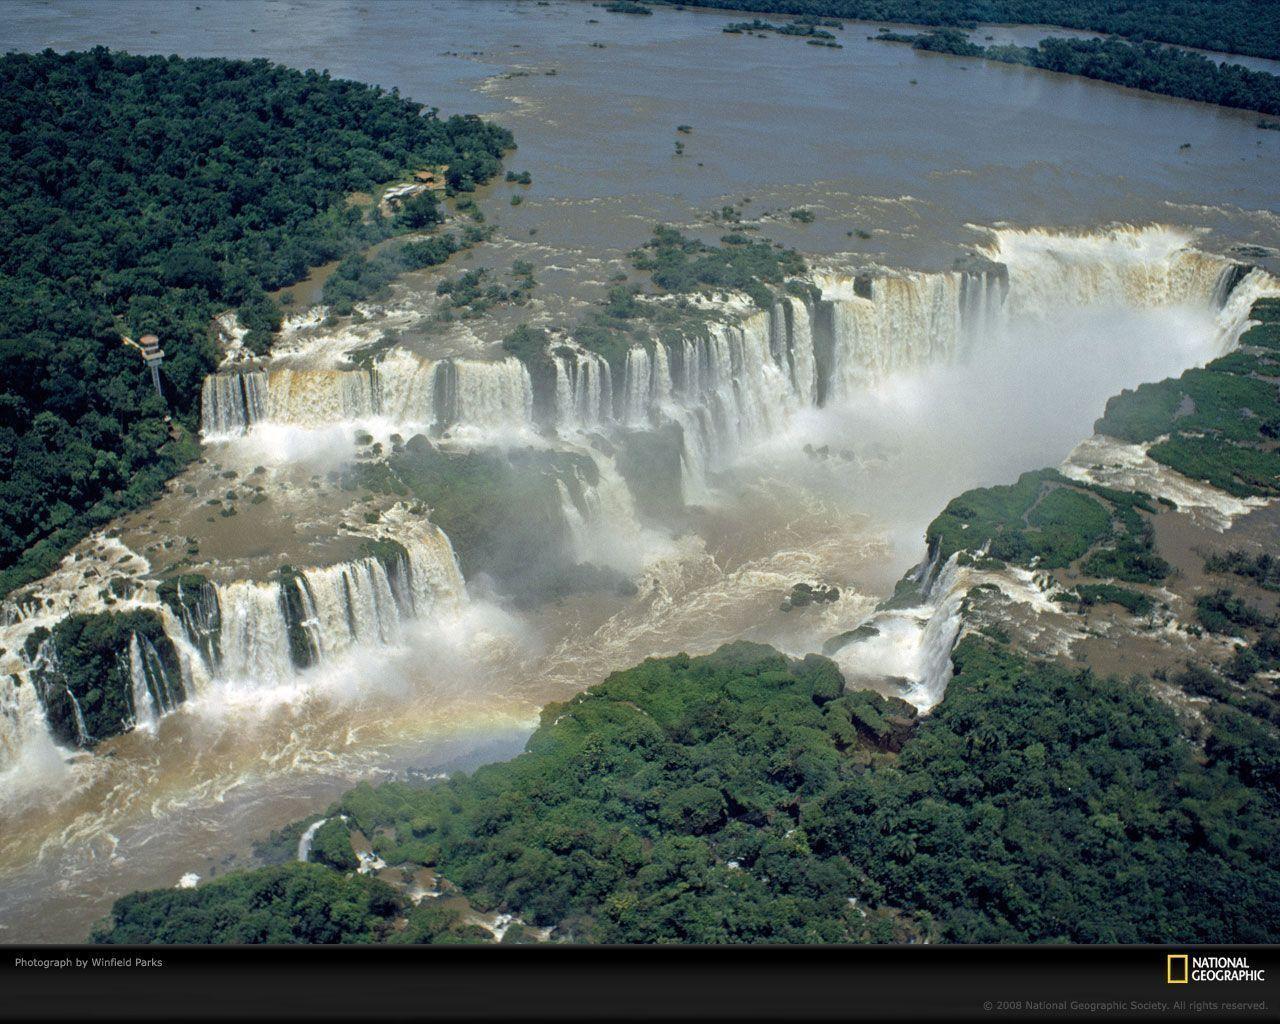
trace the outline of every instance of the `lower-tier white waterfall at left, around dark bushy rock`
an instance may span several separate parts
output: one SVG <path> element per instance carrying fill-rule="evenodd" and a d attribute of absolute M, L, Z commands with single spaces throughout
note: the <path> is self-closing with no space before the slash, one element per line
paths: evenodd
<path fill-rule="evenodd" d="M 157 582 L 141 580 L 129 609 L 154 612 L 173 645 L 180 678 L 165 666 L 156 645 L 129 634 L 116 657 L 129 681 L 131 724 L 154 731 L 184 699 L 218 704 L 220 694 L 293 686 L 300 673 L 358 648 L 393 644 L 411 620 L 456 613 L 466 585 L 449 539 L 442 530 L 398 506 L 370 536 L 375 554 L 332 566 L 303 568 L 270 581 L 178 582 L 169 600 Z M 69 556 L 74 559 L 74 556 Z M 82 599 L 81 612 L 102 612 L 101 598 Z M 37 612 L 41 609 L 37 609 Z M 95 739 L 76 694 L 61 682 L 51 637 L 35 650 L 31 631 L 58 616 L 17 612 L 4 630 L 12 644 L 0 676 L 0 780 L 32 765 L 65 759 L 49 731 L 41 687 L 56 686 L 73 710 L 77 746 Z M 172 664 L 172 662 L 170 662 Z"/>

